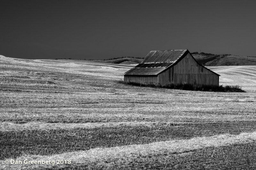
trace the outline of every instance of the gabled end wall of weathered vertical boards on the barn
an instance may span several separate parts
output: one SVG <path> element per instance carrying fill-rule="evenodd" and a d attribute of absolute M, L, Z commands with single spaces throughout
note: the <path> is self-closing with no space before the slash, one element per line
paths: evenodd
<path fill-rule="evenodd" d="M 172 68 L 158 75 L 160 85 L 195 82 L 200 85 L 219 85 L 219 76 L 197 64 L 189 53 Z"/>

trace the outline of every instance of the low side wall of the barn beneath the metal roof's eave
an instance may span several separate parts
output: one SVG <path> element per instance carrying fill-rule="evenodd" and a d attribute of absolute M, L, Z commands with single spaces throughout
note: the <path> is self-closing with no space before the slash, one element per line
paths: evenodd
<path fill-rule="evenodd" d="M 124 82 L 133 82 L 133 83 L 140 83 L 140 84 L 158 84 L 157 76 L 151 77 L 135 77 L 135 76 L 124 76 Z"/>

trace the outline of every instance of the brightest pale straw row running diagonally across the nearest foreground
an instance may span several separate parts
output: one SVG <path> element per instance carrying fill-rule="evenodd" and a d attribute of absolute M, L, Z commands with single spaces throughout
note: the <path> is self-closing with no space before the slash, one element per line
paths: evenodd
<path fill-rule="evenodd" d="M 137 144 L 137 145 L 110 147 L 110 148 L 95 148 L 88 151 L 66 152 L 62 154 L 56 154 L 53 156 L 24 155 L 22 157 L 17 158 L 16 160 L 28 159 L 28 160 L 38 161 L 38 160 L 62 159 L 62 160 L 71 160 L 71 162 L 76 166 L 79 164 L 86 165 L 86 166 L 90 166 L 90 165 L 101 166 L 102 164 L 106 165 L 110 162 L 122 162 L 123 165 L 127 165 L 127 163 L 131 162 L 131 159 L 136 159 L 136 157 L 138 156 L 140 156 L 143 159 L 147 157 L 151 158 L 153 156 L 163 157 L 164 155 L 172 156 L 173 154 L 178 154 L 180 157 L 184 158 L 193 154 L 193 152 L 198 152 L 199 149 L 209 148 L 209 147 L 223 147 L 223 146 L 225 147 L 227 145 L 230 146 L 235 144 L 255 145 L 254 144 L 255 140 L 256 140 L 256 134 L 255 132 L 253 132 L 253 133 L 242 133 L 237 136 L 219 135 L 219 136 L 212 136 L 212 137 L 196 137 L 188 140 L 175 140 L 175 141 L 172 140 L 172 141 L 164 141 L 164 142 L 154 142 L 154 143 L 142 144 L 142 145 Z M 252 159 L 252 161 L 254 160 Z M 243 162 L 240 162 L 240 163 L 243 163 Z M 247 164 L 249 163 L 248 159 L 246 163 Z M 255 162 L 251 162 L 251 163 L 253 163 L 251 164 L 251 166 L 253 165 L 255 167 Z M 5 164 L 0 164 L 0 166 L 2 168 L 8 168 L 8 165 L 5 165 Z M 36 166 L 29 165 L 29 168 L 37 169 L 39 167 L 47 167 L 47 166 L 48 165 L 36 165 Z M 113 166 L 113 164 L 110 166 Z M 201 165 L 198 164 L 197 166 L 202 166 L 202 164 Z M 209 165 L 203 165 L 203 166 L 205 167 Z M 229 166 L 232 166 L 232 164 Z M 250 164 L 248 166 L 251 167 Z M 11 167 L 19 168 L 19 165 L 14 165 L 14 167 L 13 166 Z M 59 168 L 59 166 L 57 167 Z"/>

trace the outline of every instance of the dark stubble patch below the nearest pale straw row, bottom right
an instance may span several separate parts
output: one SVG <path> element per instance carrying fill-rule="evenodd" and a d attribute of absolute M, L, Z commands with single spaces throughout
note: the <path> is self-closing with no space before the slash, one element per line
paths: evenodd
<path fill-rule="evenodd" d="M 105 164 L 84 166 L 76 164 L 58 170 L 73 169 L 255 169 L 256 143 L 230 144 L 220 147 L 206 147 L 177 154 L 157 154 L 146 157 L 120 160 Z"/>

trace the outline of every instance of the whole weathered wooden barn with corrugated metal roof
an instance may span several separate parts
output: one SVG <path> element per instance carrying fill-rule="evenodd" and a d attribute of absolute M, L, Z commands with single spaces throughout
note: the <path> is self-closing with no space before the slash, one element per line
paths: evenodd
<path fill-rule="evenodd" d="M 124 73 L 124 82 L 154 85 L 219 85 L 219 74 L 199 64 L 188 49 L 150 51 Z"/>

